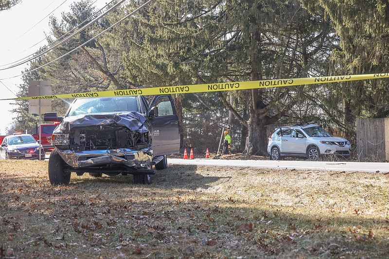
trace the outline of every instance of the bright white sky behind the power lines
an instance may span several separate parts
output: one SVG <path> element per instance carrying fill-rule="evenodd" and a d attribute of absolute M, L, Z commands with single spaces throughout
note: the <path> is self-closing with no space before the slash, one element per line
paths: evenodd
<path fill-rule="evenodd" d="M 96 6 L 96 10 L 99 10 L 109 1 L 97 0 L 94 6 Z M 0 69 L 4 68 L 6 64 L 31 55 L 39 47 L 47 45 L 47 41 L 43 39 L 45 39 L 45 33 L 50 34 L 50 16 L 55 16 L 60 20 L 61 13 L 69 12 L 69 6 L 73 2 L 74 0 L 22 0 L 21 3 L 15 5 L 10 10 L 1 11 Z M 40 43 L 34 46 L 38 42 Z M 32 46 L 34 47 L 31 48 Z M 12 69 L 0 70 L 0 79 L 20 75 L 21 71 L 28 67 L 27 64 Z M 0 99 L 15 98 L 15 93 L 18 92 L 18 86 L 23 82 L 21 76 L 0 81 Z M 1 135 L 5 135 L 5 128 L 13 121 L 13 117 L 15 117 L 10 111 L 16 108 L 16 106 L 11 105 L 14 102 L 12 100 L 0 101 Z M 31 132 L 29 133 L 31 134 Z"/>

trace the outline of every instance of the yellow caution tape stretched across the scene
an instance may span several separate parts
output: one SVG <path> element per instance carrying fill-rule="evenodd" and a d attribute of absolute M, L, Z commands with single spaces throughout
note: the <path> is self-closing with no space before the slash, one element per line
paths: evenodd
<path fill-rule="evenodd" d="M 211 83 L 211 84 L 187 85 L 187 86 L 162 86 L 162 87 L 100 91 L 100 92 L 91 91 L 91 92 L 71 93 L 71 94 L 29 96 L 29 97 L 19 97 L 19 98 L 0 99 L 0 100 L 57 99 L 57 98 L 65 99 L 65 98 L 80 98 L 80 97 L 110 97 L 110 96 L 178 94 L 178 93 L 182 94 L 182 93 L 215 92 L 215 91 L 229 91 L 229 90 L 247 90 L 247 89 L 256 89 L 256 88 L 259 89 L 259 88 L 280 87 L 280 86 L 315 85 L 315 84 L 348 82 L 348 81 L 379 79 L 379 78 L 389 78 L 389 73 L 275 79 L 275 80 L 260 80 L 260 81 L 248 81 L 248 82 Z"/>

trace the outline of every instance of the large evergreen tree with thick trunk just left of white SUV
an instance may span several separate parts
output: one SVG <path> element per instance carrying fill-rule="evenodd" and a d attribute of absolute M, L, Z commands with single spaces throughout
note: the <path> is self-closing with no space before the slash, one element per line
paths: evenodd
<path fill-rule="evenodd" d="M 321 75 L 332 49 L 332 28 L 318 9 L 298 1 L 161 0 L 123 27 L 125 75 L 150 86 L 282 79 Z M 238 93 L 248 117 L 222 103 L 248 128 L 249 154 L 266 154 L 266 126 L 301 100 L 304 86 Z M 238 97 L 236 97 L 238 99 Z"/>

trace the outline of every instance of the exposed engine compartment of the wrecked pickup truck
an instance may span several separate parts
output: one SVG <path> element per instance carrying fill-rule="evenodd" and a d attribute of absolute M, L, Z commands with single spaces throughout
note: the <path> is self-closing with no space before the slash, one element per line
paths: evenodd
<path fill-rule="evenodd" d="M 140 133 L 124 129 L 72 129 L 70 149 L 74 151 L 110 150 L 129 148 L 140 150 L 151 145 L 149 132 Z"/>

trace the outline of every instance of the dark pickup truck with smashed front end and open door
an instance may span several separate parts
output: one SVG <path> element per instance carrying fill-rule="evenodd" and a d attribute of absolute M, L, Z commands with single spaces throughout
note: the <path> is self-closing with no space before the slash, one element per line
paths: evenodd
<path fill-rule="evenodd" d="M 170 95 L 151 102 L 143 96 L 78 98 L 65 117 L 48 113 L 44 120 L 61 121 L 52 136 L 52 185 L 69 184 L 71 172 L 132 174 L 136 184 L 151 184 L 154 168 L 166 169 L 166 155 L 179 152 L 178 118 Z"/>

